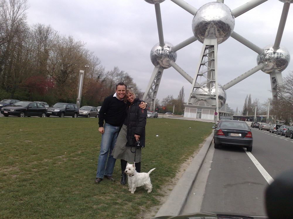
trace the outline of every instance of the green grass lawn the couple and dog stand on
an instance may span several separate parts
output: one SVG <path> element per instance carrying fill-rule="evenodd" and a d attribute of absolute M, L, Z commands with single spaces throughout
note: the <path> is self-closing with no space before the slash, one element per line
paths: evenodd
<path fill-rule="evenodd" d="M 94 183 L 97 118 L 0 117 L 0 124 L 0 218 L 137 218 L 160 204 L 164 182 L 212 132 L 212 123 L 148 119 L 142 172 L 156 168 L 153 191 L 130 194 L 120 185 L 120 160 L 116 182 Z"/>

